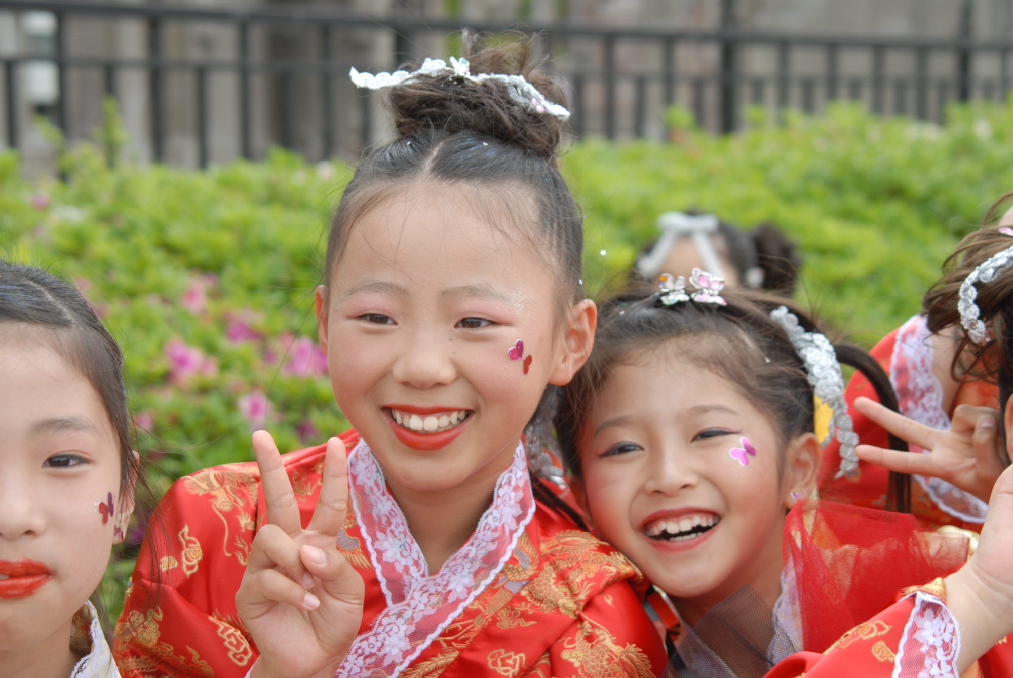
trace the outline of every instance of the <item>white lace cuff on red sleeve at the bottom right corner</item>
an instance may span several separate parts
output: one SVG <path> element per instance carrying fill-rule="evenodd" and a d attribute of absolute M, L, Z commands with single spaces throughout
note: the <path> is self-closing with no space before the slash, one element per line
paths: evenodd
<path fill-rule="evenodd" d="M 901 637 L 891 678 L 958 678 L 960 626 L 942 600 L 919 591 Z"/>

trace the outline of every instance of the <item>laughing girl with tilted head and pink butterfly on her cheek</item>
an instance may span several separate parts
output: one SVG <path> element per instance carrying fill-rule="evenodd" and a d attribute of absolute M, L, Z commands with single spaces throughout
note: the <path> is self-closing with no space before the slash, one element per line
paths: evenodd
<path fill-rule="evenodd" d="M 653 583 L 673 675 L 957 675 L 1013 631 L 1005 525 L 961 569 L 964 538 L 805 499 L 820 465 L 816 398 L 834 411 L 831 434 L 846 450 L 856 442 L 838 360 L 888 400 L 862 351 L 833 346 L 788 303 L 723 291 L 699 270 L 691 286 L 664 276 L 660 291 L 603 307 L 594 353 L 565 390 L 560 440 L 597 533 Z M 1003 583 L 969 608 L 983 568 Z M 983 659 L 984 675 L 1008 675 L 1007 647 Z"/>

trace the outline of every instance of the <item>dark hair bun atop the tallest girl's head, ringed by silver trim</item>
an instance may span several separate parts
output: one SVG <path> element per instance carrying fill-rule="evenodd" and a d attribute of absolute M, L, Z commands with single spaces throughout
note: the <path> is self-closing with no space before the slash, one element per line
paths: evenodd
<path fill-rule="evenodd" d="M 549 101 L 565 106 L 556 79 L 541 70 L 535 57 L 535 37 L 520 32 L 497 34 L 496 45 L 470 30 L 462 33 L 464 57 L 472 75 L 522 75 Z M 414 70 L 414 69 L 412 69 Z M 552 115 L 528 110 L 511 98 L 501 82 L 472 82 L 455 76 L 418 76 L 390 90 L 394 124 L 402 137 L 427 131 L 487 135 L 549 160 L 555 159 L 562 123 Z"/>

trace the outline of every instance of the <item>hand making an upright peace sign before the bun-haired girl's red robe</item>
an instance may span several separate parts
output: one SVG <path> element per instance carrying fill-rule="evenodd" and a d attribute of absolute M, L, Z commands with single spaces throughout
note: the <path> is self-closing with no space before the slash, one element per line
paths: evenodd
<path fill-rule="evenodd" d="M 363 579 L 335 548 L 348 503 L 344 445 L 327 441 L 320 498 L 304 529 L 274 439 L 253 434 L 267 522 L 253 538 L 236 609 L 260 656 L 250 678 L 332 678 L 359 632 Z"/>

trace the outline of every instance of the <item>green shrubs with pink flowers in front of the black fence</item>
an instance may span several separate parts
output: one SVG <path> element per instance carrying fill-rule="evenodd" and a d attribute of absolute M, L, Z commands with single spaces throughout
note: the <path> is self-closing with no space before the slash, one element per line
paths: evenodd
<path fill-rule="evenodd" d="M 848 105 L 748 119 L 732 137 L 683 128 L 674 144 L 588 140 L 564 157 L 592 290 L 622 278 L 663 211 L 770 221 L 804 253 L 800 301 L 868 345 L 918 311 L 958 237 L 1013 188 L 1013 106 L 954 107 L 945 126 Z M 123 141 L 103 134 L 64 153 L 65 181 L 25 180 L 0 154 L 0 256 L 77 282 L 123 343 L 158 491 L 251 458 L 255 426 L 282 449 L 346 428 L 314 350 L 312 292 L 349 169 L 284 152 L 205 172 L 109 168 Z M 106 578 L 113 611 L 138 537 Z"/>

